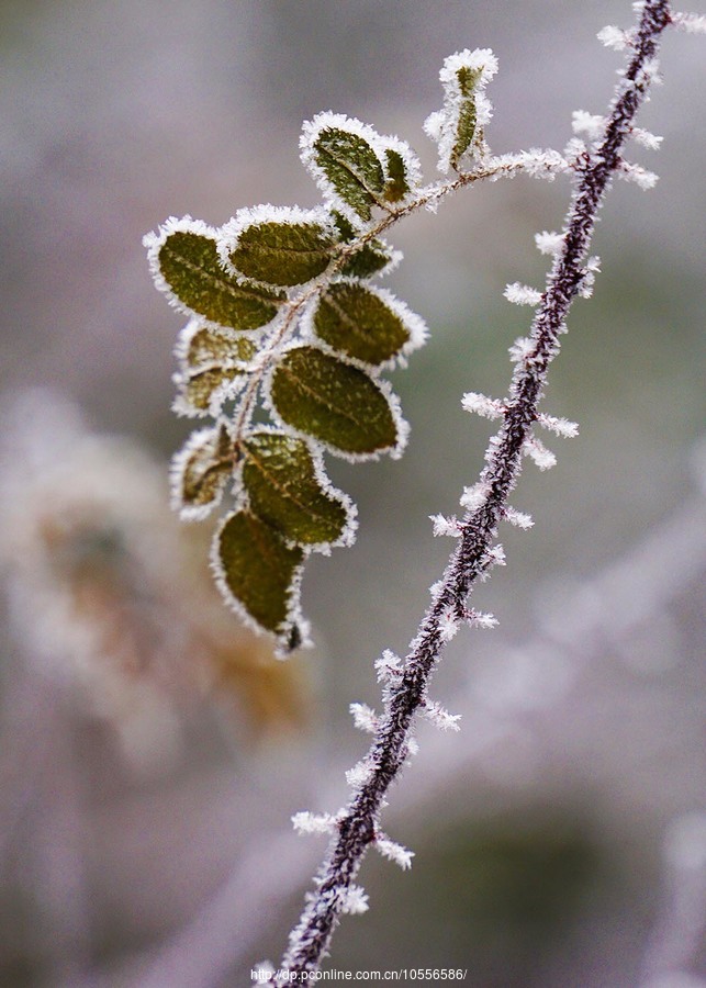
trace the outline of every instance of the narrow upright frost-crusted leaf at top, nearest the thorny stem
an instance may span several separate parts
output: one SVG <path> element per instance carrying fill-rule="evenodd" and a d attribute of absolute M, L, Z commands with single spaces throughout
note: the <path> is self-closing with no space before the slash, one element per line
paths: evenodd
<path fill-rule="evenodd" d="M 482 146 L 482 128 L 493 113 L 484 94 L 485 86 L 497 71 L 497 59 L 490 48 L 464 48 L 450 55 L 439 72 L 444 86 L 444 106 L 424 123 L 427 135 L 439 148 L 439 171 L 458 170 L 463 157 Z"/>

